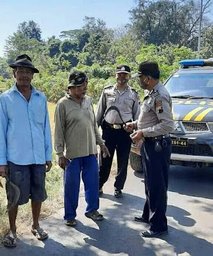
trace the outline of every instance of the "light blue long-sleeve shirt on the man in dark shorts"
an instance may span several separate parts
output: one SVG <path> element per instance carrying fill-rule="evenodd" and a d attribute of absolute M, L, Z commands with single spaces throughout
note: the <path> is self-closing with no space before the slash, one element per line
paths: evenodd
<path fill-rule="evenodd" d="M 45 164 L 52 160 L 47 100 L 31 86 L 29 102 L 16 84 L 0 96 L 0 165 Z"/>

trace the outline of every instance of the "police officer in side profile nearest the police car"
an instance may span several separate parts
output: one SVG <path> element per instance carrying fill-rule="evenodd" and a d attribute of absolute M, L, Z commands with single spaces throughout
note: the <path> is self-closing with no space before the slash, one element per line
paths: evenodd
<path fill-rule="evenodd" d="M 147 200 L 143 215 L 135 221 L 150 223 L 148 230 L 140 232 L 143 237 L 156 237 L 168 232 L 166 204 L 168 168 L 172 144 L 169 132 L 173 131 L 172 100 L 163 84 L 159 83 L 159 68 L 154 61 L 140 63 L 138 72 L 140 86 L 148 90 L 142 110 L 136 122 L 126 124 L 126 131 L 135 142 L 143 140 L 141 147 Z"/>

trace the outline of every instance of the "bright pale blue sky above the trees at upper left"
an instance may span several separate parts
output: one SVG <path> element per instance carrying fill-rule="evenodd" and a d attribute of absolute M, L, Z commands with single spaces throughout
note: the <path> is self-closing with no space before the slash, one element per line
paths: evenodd
<path fill-rule="evenodd" d="M 0 56 L 5 40 L 17 31 L 18 24 L 34 20 L 42 31 L 42 38 L 84 25 L 84 17 L 103 19 L 108 28 L 117 28 L 129 22 L 129 13 L 135 0 L 0 0 Z"/>

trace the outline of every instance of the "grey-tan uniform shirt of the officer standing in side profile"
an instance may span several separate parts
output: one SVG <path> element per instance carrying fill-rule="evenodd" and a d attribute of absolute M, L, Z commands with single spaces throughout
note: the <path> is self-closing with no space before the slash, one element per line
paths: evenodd
<path fill-rule="evenodd" d="M 144 137 L 156 137 L 173 131 L 172 99 L 163 84 L 156 84 L 145 95 L 137 127 L 142 130 Z"/>

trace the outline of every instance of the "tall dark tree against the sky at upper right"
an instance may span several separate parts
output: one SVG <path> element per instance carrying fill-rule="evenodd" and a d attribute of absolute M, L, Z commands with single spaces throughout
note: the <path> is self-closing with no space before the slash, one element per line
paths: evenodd
<path fill-rule="evenodd" d="M 210 1 L 203 7 L 208 12 Z M 200 6 L 194 0 L 137 0 L 130 11 L 132 29 L 147 44 L 177 44 L 195 49 L 198 40 Z M 203 29 L 209 20 L 203 20 Z"/>

